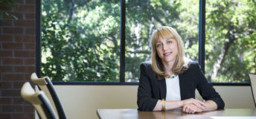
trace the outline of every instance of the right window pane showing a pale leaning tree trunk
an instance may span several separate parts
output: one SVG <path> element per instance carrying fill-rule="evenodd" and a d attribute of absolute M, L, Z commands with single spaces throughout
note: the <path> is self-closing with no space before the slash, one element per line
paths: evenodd
<path fill-rule="evenodd" d="M 255 1 L 207 1 L 205 76 L 211 82 L 249 82 L 256 72 Z"/>

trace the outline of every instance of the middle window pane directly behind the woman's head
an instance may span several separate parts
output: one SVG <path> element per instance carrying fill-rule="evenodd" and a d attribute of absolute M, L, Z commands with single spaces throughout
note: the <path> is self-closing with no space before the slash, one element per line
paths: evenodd
<path fill-rule="evenodd" d="M 183 4 L 183 3 L 190 3 Z M 159 26 L 176 28 L 185 44 L 185 54 L 198 60 L 199 1 L 127 1 L 125 32 L 125 81 L 138 82 L 139 65 L 150 60 L 150 36 Z M 196 16 L 196 17 L 195 17 Z"/>

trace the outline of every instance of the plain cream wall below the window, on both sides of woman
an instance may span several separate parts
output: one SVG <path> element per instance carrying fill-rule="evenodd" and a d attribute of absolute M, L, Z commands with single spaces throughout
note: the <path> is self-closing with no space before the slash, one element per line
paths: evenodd
<path fill-rule="evenodd" d="M 225 108 L 254 108 L 250 86 L 214 86 Z M 67 118 L 97 118 L 96 109 L 137 109 L 138 86 L 54 86 Z"/>

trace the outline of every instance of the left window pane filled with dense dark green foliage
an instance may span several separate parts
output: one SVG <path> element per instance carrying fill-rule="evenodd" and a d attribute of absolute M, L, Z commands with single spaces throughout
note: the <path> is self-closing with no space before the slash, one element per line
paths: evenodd
<path fill-rule="evenodd" d="M 119 1 L 42 1 L 42 74 L 118 82 Z"/>

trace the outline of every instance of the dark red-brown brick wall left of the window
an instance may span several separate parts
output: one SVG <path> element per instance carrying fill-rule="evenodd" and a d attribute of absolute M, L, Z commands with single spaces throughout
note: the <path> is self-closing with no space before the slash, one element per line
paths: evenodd
<path fill-rule="evenodd" d="M 35 0 L 14 0 L 15 9 L 1 7 L 18 20 L 0 22 L 0 119 L 34 118 L 33 106 L 20 96 L 35 71 Z"/>

